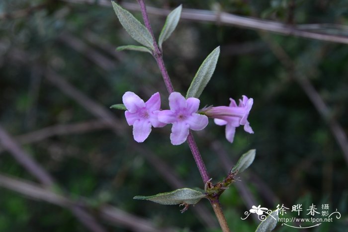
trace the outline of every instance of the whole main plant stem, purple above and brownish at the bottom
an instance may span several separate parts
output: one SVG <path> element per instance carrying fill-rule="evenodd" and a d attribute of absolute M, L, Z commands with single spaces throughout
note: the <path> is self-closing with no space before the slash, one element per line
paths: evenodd
<path fill-rule="evenodd" d="M 139 2 L 140 8 L 141 8 L 141 14 L 143 16 L 145 26 L 149 30 L 149 32 L 151 33 L 152 38 L 154 40 L 155 51 L 153 52 L 153 55 L 156 59 L 158 67 L 160 68 L 160 71 L 161 71 L 162 77 L 165 81 L 167 90 L 169 93 L 172 93 L 172 92 L 174 92 L 174 87 L 173 87 L 171 78 L 168 75 L 166 66 L 164 64 L 162 51 L 158 47 L 154 32 L 151 28 L 150 20 L 149 20 L 147 11 L 146 11 L 145 0 L 137 0 L 137 1 Z M 205 167 L 204 161 L 202 159 L 202 156 L 199 153 L 198 147 L 196 145 L 196 142 L 194 141 L 194 138 L 193 138 L 193 135 L 191 132 L 189 132 L 189 134 L 188 134 L 187 143 L 188 143 L 188 146 L 190 147 L 190 150 L 192 152 L 194 161 L 197 164 L 197 167 L 198 167 L 199 173 L 203 179 L 203 182 L 204 182 L 204 184 L 206 184 L 210 180 L 210 177 L 209 177 L 208 171 Z M 220 224 L 222 231 L 223 232 L 230 232 L 230 229 L 228 228 L 224 213 L 222 212 L 219 198 L 217 197 L 216 199 L 210 200 L 210 204 L 212 205 L 212 207 L 214 209 L 214 213 L 219 221 L 219 224 Z"/>

